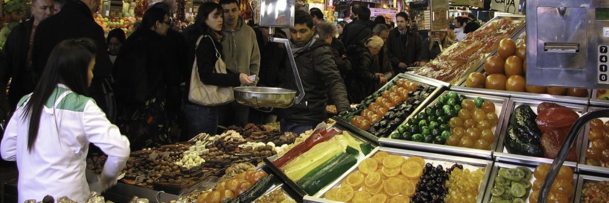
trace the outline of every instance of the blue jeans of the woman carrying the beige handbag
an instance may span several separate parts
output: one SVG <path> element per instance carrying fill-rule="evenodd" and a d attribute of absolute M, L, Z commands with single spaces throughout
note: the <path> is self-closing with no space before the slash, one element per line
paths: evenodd
<path fill-rule="evenodd" d="M 202 132 L 216 135 L 218 129 L 218 108 L 186 103 L 184 107 L 188 119 L 188 135 L 194 137 Z"/>

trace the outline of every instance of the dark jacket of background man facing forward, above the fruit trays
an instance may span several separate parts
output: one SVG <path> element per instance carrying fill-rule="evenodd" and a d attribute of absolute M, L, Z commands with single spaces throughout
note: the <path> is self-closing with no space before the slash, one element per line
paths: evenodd
<path fill-rule="evenodd" d="M 387 49 L 389 51 L 389 60 L 393 66 L 395 74 L 404 73 L 405 69 L 400 69 L 400 62 L 406 65 L 412 65 L 415 62 L 423 60 L 423 46 L 421 45 L 421 37 L 415 32 L 406 31 L 408 34 L 407 41 L 402 40 L 402 36 L 398 29 L 389 30 L 389 38 L 387 38 Z"/>

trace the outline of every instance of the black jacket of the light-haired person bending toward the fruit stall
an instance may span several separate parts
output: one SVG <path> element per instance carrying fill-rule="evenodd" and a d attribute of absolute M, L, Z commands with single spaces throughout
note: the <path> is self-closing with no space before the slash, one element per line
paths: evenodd
<path fill-rule="evenodd" d="M 345 85 L 347 85 L 349 102 L 359 103 L 374 93 L 375 84 L 379 83 L 380 77 L 375 75 L 372 54 L 364 43 L 349 46 L 347 50 L 353 68 L 347 76 Z"/>

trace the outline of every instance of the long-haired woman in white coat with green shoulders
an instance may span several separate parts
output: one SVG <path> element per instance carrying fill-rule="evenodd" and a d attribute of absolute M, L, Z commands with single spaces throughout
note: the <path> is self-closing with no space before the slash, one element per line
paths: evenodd
<path fill-rule="evenodd" d="M 0 151 L 17 162 L 19 202 L 68 196 L 85 202 L 89 143 L 108 160 L 100 175 L 105 190 L 116 183 L 127 162 L 129 141 L 86 95 L 93 78 L 95 43 L 64 40 L 49 56 L 34 92 L 24 96 L 4 132 Z"/>

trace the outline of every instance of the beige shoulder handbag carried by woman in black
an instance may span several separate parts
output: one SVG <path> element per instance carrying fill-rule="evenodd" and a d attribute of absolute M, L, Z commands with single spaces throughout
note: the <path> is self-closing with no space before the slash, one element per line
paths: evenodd
<path fill-rule="evenodd" d="M 203 37 L 209 37 L 209 35 L 201 35 L 201 37 L 199 37 L 195 50 L 199 47 L 199 42 Z M 222 61 L 220 52 L 216 48 L 216 43 L 214 43 L 213 38 L 209 37 L 209 39 L 211 40 L 211 43 L 213 43 L 214 49 L 216 49 L 216 57 L 218 57 L 214 73 L 226 74 L 226 64 Z M 192 64 L 191 85 L 188 91 L 188 101 L 198 105 L 216 106 L 228 104 L 233 100 L 233 87 L 218 87 L 216 85 L 208 85 L 201 82 L 199 68 L 197 67 L 197 54 L 195 51 L 195 60 Z"/>

